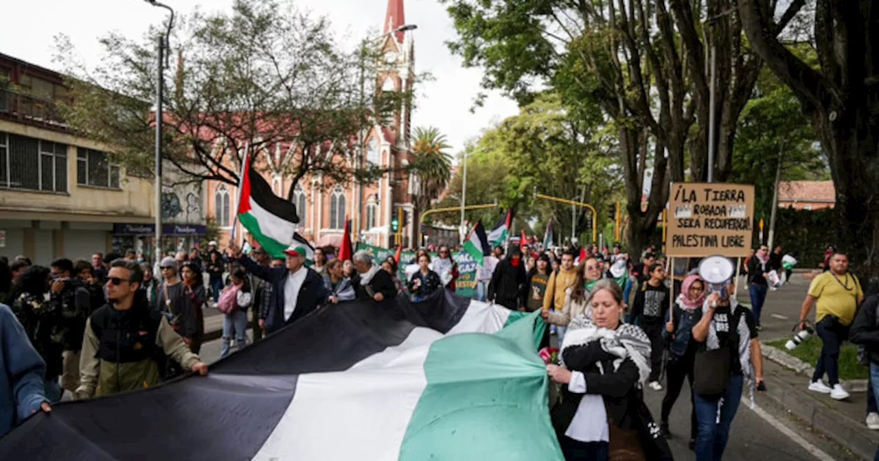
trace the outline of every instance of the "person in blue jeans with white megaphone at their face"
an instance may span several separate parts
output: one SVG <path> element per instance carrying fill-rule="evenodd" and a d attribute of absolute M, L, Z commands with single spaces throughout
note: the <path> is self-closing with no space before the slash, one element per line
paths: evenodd
<path fill-rule="evenodd" d="M 701 343 L 694 359 L 697 461 L 723 457 L 744 386 L 751 393 L 752 407 L 754 389 L 765 390 L 754 318 L 749 309 L 730 297 L 734 290 L 727 284 L 721 292 L 709 294 L 701 308 L 701 320 L 692 330 L 694 341 Z"/>

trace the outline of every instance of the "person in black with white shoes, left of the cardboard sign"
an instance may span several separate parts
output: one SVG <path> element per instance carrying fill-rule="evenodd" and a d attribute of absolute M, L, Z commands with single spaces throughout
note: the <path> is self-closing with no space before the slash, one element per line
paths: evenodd
<path fill-rule="evenodd" d="M 632 306 L 631 321 L 644 330 L 650 338 L 650 389 L 662 391 L 659 372 L 662 370 L 663 326 L 668 313 L 668 287 L 665 286 L 665 269 L 662 263 L 652 263 L 647 268 L 647 281 L 641 284 Z"/>

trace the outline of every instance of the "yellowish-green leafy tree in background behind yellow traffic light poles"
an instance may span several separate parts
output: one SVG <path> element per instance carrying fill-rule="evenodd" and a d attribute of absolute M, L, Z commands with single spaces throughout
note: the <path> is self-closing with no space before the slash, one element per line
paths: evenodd
<path fill-rule="evenodd" d="M 596 209 L 606 208 L 621 186 L 621 168 L 608 142 L 606 130 L 570 116 L 561 97 L 545 92 L 522 107 L 518 115 L 483 133 L 476 142 L 480 151 L 469 155 L 467 198 L 469 204 L 498 200 L 500 208 L 517 209 L 517 227 L 528 221 L 554 219 L 557 229 L 571 227 L 571 206 L 542 198 L 574 198 Z M 461 203 L 461 176 L 453 177 L 442 205 Z M 498 211 L 469 212 L 472 220 L 493 224 Z M 574 219 L 581 231 L 592 219 L 591 212 L 578 207 Z M 451 219 L 451 217 L 449 217 Z M 599 221 L 604 215 L 599 213 Z"/>

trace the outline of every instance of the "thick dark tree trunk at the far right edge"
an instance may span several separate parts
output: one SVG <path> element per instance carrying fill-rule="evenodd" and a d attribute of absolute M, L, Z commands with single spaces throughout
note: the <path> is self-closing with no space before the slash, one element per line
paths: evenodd
<path fill-rule="evenodd" d="M 793 2 L 804 4 L 804 1 Z M 879 279 L 879 184 L 876 141 L 879 140 L 879 47 L 875 38 L 879 14 L 865 0 L 815 4 L 813 46 L 817 68 L 785 47 L 772 33 L 774 12 L 757 0 L 740 0 L 742 25 L 752 47 L 781 82 L 793 90 L 818 133 L 830 162 L 836 188 L 839 248 L 850 252 L 871 284 Z"/>

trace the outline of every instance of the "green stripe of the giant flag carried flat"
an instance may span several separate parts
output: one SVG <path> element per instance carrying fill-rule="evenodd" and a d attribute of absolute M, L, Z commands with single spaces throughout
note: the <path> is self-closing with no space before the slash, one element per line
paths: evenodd
<path fill-rule="evenodd" d="M 563 460 L 549 420 L 546 366 L 534 352 L 539 315 L 517 315 L 494 335 L 451 335 L 431 344 L 427 385 L 401 461 Z"/>

